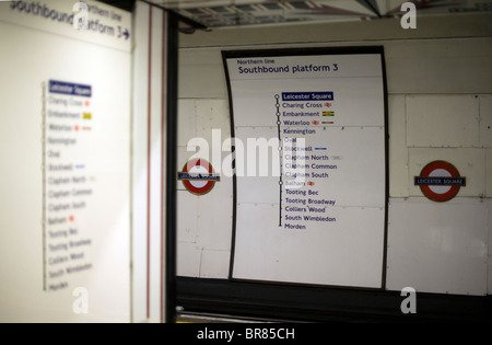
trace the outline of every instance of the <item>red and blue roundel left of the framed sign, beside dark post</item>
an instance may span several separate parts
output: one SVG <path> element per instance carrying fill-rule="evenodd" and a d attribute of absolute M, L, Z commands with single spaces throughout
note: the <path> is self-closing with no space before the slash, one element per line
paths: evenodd
<path fill-rule="evenodd" d="M 178 180 L 185 188 L 196 195 L 203 195 L 212 191 L 215 182 L 221 181 L 219 174 L 213 173 L 212 164 L 204 159 L 188 161 L 183 171 L 178 172 Z"/>

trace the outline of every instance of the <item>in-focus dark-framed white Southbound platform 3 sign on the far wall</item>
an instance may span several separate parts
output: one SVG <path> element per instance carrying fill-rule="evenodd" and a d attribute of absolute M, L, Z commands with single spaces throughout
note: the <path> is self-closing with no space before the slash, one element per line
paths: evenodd
<path fill-rule="evenodd" d="M 231 277 L 382 287 L 383 49 L 224 51 L 223 58 L 231 129 L 244 143 L 234 148 Z"/>

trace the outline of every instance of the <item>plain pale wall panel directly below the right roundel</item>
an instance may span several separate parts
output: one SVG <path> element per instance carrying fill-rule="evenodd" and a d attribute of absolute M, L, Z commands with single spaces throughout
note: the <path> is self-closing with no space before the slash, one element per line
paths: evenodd
<path fill-rule="evenodd" d="M 390 199 L 387 288 L 487 295 L 488 205 Z"/>

